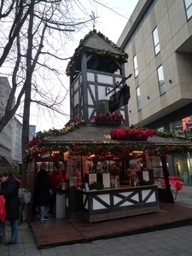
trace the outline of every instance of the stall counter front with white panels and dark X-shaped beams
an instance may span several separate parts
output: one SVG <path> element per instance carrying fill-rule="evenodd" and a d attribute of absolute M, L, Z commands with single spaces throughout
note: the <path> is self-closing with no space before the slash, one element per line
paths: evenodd
<path fill-rule="evenodd" d="M 83 218 L 90 223 L 160 211 L 156 185 L 83 191 Z"/>

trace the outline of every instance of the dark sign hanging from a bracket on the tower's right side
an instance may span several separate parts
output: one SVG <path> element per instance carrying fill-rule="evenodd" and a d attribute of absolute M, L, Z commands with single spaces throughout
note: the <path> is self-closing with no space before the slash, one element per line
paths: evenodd
<path fill-rule="evenodd" d="M 108 101 L 108 108 L 111 113 L 125 106 L 130 99 L 130 87 L 126 84 L 118 92 L 110 96 Z"/>

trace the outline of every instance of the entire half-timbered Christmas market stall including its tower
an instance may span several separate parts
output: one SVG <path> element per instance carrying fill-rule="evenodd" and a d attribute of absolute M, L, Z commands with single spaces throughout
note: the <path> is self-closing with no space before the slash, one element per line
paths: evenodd
<path fill-rule="evenodd" d="M 101 32 L 85 35 L 66 70 L 70 120 L 61 130 L 38 132 L 28 144 L 27 189 L 32 195 L 41 162 L 48 173 L 55 165 L 63 173 L 55 218 L 94 223 L 159 212 L 160 201 L 174 202 L 169 176 L 179 178 L 181 170 L 172 156 L 188 153 L 189 160 L 192 143 L 130 127 L 126 83 L 134 78 L 125 74 L 127 61 L 128 55 Z M 32 202 L 27 207 L 30 221 Z"/>

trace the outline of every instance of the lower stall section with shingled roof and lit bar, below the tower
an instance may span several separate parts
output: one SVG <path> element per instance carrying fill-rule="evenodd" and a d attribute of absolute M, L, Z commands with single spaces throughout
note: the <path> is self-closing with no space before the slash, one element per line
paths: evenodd
<path fill-rule="evenodd" d="M 160 201 L 174 202 L 166 154 L 186 151 L 192 143 L 177 137 L 148 137 L 145 140 L 113 139 L 113 129 L 124 125 L 70 125 L 56 135 L 39 136 L 26 161 L 53 163 L 68 172 L 66 218 L 89 222 L 159 212 Z M 31 173 L 31 172 L 29 172 Z M 77 175 L 78 173 L 78 175 Z M 160 180 L 163 183 L 160 183 Z"/>

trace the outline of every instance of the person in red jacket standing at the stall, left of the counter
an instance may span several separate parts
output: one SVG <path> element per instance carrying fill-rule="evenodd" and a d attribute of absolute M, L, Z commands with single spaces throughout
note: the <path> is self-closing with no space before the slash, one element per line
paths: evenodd
<path fill-rule="evenodd" d="M 56 190 L 59 189 L 59 184 L 62 181 L 62 173 L 59 166 L 54 166 L 53 172 L 49 176 L 50 187 L 52 189 L 52 195 L 49 201 L 49 212 L 53 213 L 53 207 L 55 205 Z"/>

